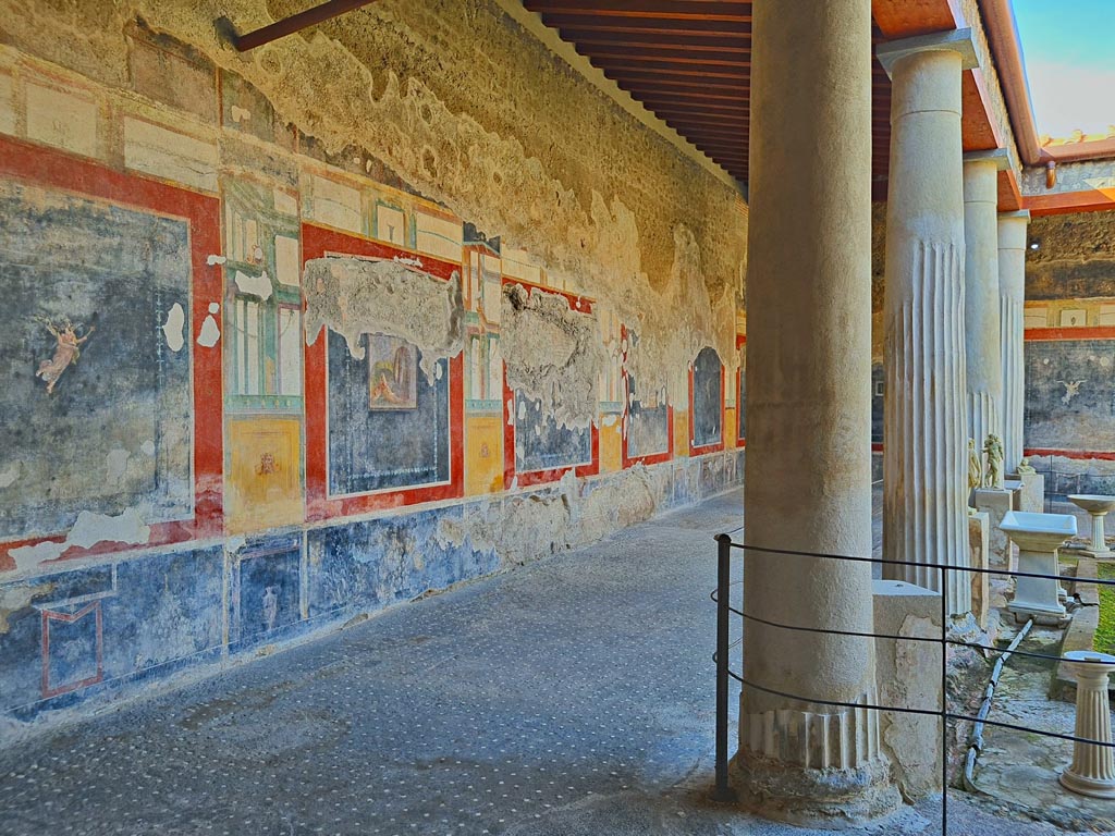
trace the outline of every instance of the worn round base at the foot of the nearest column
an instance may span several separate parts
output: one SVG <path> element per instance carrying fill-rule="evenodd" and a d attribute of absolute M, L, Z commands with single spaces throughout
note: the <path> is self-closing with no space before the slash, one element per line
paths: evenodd
<path fill-rule="evenodd" d="M 798 827 L 855 827 L 902 804 L 882 757 L 856 769 L 809 769 L 740 750 L 731 770 L 740 807 Z"/>

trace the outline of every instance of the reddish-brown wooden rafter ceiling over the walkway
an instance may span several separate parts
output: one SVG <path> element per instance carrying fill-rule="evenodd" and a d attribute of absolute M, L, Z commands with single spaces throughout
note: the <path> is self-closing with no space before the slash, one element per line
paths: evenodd
<path fill-rule="evenodd" d="M 737 181 L 747 182 L 750 2 L 522 2 L 648 111 Z M 961 0 L 872 0 L 872 17 L 874 45 L 967 26 Z M 890 163 L 891 82 L 879 61 L 872 62 L 871 82 L 872 185 L 880 200 L 886 194 Z M 1004 142 L 990 115 L 983 76 L 966 74 L 963 91 L 966 149 Z M 1017 182 L 1000 182 L 1006 207 L 1017 192 Z"/>

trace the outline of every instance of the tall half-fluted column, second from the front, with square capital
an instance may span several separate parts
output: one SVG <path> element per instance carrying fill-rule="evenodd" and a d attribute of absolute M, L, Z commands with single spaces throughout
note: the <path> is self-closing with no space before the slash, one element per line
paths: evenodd
<path fill-rule="evenodd" d="M 892 80 L 883 554 L 969 566 L 960 72 L 976 66 L 971 32 L 885 43 L 879 59 Z M 883 570 L 942 592 L 935 568 Z M 949 613 L 967 613 L 968 573 L 944 580 Z"/>

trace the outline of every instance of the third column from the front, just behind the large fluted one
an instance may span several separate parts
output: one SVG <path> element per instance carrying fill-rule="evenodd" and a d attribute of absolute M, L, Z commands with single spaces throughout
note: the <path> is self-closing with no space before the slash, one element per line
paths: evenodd
<path fill-rule="evenodd" d="M 968 437 L 983 449 L 1002 438 L 1002 338 L 999 328 L 999 168 L 1007 152 L 964 155 L 964 375 Z"/>

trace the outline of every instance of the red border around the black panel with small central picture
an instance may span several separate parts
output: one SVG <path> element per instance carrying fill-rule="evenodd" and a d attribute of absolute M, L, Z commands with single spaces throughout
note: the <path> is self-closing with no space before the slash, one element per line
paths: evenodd
<path fill-rule="evenodd" d="M 381 259 L 411 257 L 413 253 L 360 237 L 351 233 L 302 224 L 302 263 L 320 259 L 327 253 L 346 253 Z M 463 275 L 462 265 L 423 255 L 423 270 L 446 281 L 454 272 Z M 328 381 L 326 380 L 326 352 L 328 339 L 324 331 L 317 334 L 312 346 L 306 347 L 306 516 L 318 522 L 351 516 L 384 508 L 398 508 L 442 499 L 457 499 L 465 495 L 465 383 L 464 352 L 449 360 L 449 482 L 439 485 L 377 490 L 330 498 L 327 450 L 329 427 L 326 418 Z M 310 337 L 311 334 L 308 334 Z"/>

